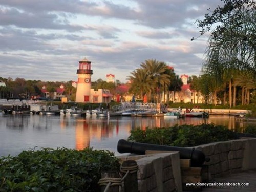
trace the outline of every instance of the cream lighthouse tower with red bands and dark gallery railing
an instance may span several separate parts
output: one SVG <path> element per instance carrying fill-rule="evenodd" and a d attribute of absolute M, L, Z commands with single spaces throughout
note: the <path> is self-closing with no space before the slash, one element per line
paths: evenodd
<path fill-rule="evenodd" d="M 79 61 L 79 69 L 76 74 L 78 75 L 77 88 L 76 88 L 76 102 L 89 102 L 91 93 L 91 61 L 84 58 Z"/>

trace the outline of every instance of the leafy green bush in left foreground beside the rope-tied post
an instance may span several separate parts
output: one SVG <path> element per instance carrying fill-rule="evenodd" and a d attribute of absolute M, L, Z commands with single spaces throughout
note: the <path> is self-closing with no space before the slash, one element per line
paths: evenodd
<path fill-rule="evenodd" d="M 0 159 L 0 191 L 98 191 L 102 170 L 117 170 L 109 151 L 43 148 Z"/>

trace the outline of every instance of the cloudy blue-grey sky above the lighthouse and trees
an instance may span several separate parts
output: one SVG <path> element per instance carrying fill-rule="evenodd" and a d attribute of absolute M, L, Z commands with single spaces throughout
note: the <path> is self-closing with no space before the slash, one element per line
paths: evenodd
<path fill-rule="evenodd" d="M 208 36 L 195 21 L 220 0 L 1 0 L 0 77 L 77 80 L 92 61 L 92 80 L 126 82 L 147 59 L 178 75 L 199 75 Z"/>

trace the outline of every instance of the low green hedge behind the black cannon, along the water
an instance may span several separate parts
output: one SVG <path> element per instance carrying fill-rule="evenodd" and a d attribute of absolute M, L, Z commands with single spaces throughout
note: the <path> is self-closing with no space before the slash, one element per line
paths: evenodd
<path fill-rule="evenodd" d="M 169 128 L 132 130 L 129 141 L 190 147 L 235 139 L 234 132 L 214 124 L 174 125 Z"/>

